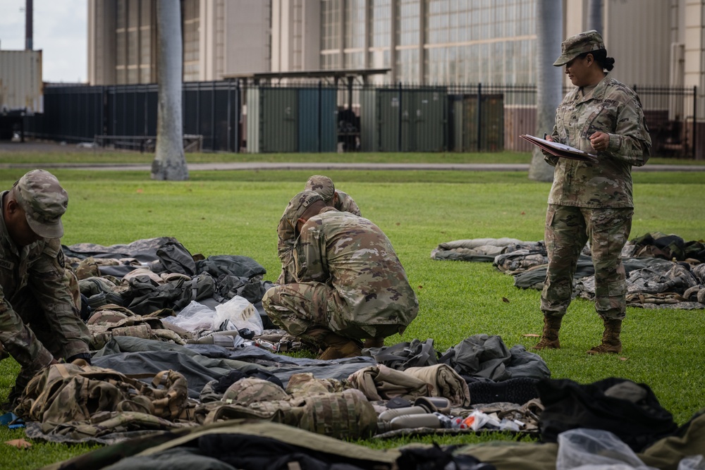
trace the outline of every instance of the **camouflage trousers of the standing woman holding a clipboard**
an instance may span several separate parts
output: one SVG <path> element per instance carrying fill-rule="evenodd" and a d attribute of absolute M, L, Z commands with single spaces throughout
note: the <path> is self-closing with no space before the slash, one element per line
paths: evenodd
<path fill-rule="evenodd" d="M 544 315 L 565 315 L 577 260 L 589 241 L 595 268 L 595 309 L 603 319 L 625 317 L 627 281 L 621 252 L 632 228 L 632 214 L 631 208 L 549 204 L 545 228 L 548 271 L 541 291 Z"/>

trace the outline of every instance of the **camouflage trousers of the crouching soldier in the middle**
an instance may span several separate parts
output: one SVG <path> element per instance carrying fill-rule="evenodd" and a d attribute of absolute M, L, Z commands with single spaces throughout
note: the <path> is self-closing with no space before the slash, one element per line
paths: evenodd
<path fill-rule="evenodd" d="M 294 283 L 271 287 L 262 297 L 269 319 L 290 335 L 314 346 L 323 346 L 330 331 L 360 340 L 398 332 L 398 326 L 358 326 L 350 323 L 347 304 L 333 287 L 323 283 Z M 393 331 L 386 331 L 387 329 Z"/>

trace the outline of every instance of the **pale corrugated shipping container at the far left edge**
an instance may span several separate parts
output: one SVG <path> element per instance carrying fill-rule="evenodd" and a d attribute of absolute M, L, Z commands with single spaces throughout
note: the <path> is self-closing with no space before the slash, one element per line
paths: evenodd
<path fill-rule="evenodd" d="M 0 51 L 0 111 L 44 112 L 42 51 Z"/>

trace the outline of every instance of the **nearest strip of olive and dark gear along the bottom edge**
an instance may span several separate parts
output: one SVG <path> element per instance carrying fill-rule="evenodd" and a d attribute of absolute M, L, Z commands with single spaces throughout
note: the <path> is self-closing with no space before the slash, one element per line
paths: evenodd
<path fill-rule="evenodd" d="M 696 414 L 671 435 L 638 452 L 620 447 L 620 443 L 620 438 L 608 431 L 575 428 L 559 434 L 557 443 L 495 441 L 374 450 L 281 423 L 234 419 L 157 431 L 44 468 L 555 470 L 610 464 L 610 468 L 620 469 L 695 470 L 705 463 L 705 414 Z M 238 461 L 233 466 L 228 459 L 235 449 Z"/>

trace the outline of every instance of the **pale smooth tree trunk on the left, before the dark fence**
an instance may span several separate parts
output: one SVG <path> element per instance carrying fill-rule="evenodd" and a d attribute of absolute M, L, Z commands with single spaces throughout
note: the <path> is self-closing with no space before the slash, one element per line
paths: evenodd
<path fill-rule="evenodd" d="M 181 120 L 181 11 L 176 0 L 157 1 L 157 147 L 153 180 L 188 180 Z"/>

